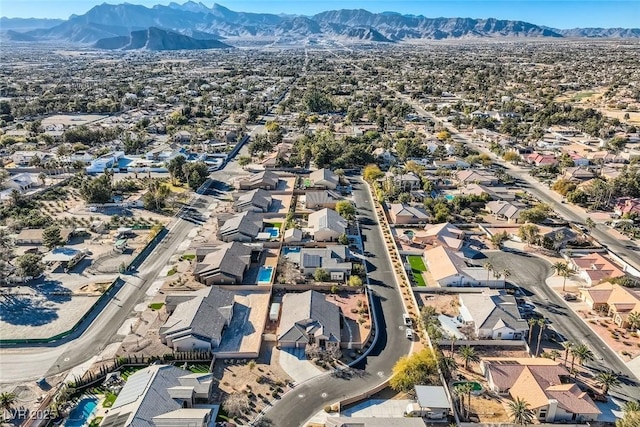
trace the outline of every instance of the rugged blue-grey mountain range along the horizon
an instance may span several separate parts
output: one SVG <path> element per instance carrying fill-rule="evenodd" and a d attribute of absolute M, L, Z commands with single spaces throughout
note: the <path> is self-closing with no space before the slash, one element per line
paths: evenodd
<path fill-rule="evenodd" d="M 559 30 L 523 21 L 426 18 L 394 12 L 371 13 L 363 9 L 332 10 L 314 16 L 275 15 L 235 12 L 218 4 L 208 7 L 193 1 L 150 8 L 104 3 L 84 15 L 71 15 L 65 21 L 2 18 L 0 31 L 5 41 L 73 42 L 97 47 L 120 46 L 120 49 L 202 48 L 200 46 L 215 45 L 212 42 L 217 40 L 233 44 L 234 40 L 267 39 L 401 43 L 421 39 L 506 37 L 640 38 L 637 28 Z M 185 38 L 178 37 L 180 34 Z M 203 41 L 209 43 L 201 43 Z M 220 43 L 218 47 L 228 45 Z"/>

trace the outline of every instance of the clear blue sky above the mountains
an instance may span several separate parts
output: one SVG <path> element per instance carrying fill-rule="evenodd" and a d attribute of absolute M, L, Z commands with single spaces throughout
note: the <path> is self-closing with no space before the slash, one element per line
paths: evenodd
<path fill-rule="evenodd" d="M 123 3 L 125 0 L 108 0 Z M 184 3 L 186 0 L 177 0 Z M 203 0 L 211 7 L 216 0 Z M 0 16 L 63 18 L 81 15 L 104 0 L 0 0 Z M 153 6 L 170 0 L 128 0 Z M 640 0 L 217 0 L 239 12 L 313 15 L 325 10 L 366 9 L 436 17 L 498 18 L 554 28 L 640 27 Z"/>

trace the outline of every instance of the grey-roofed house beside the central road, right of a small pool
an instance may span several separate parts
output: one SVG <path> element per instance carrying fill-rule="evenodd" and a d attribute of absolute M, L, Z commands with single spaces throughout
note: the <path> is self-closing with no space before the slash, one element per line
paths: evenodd
<path fill-rule="evenodd" d="M 351 274 L 351 254 L 349 248 L 344 245 L 302 248 L 299 253 L 290 256 L 292 262 L 307 276 L 312 276 L 318 268 L 329 273 L 331 281 L 344 281 Z"/>

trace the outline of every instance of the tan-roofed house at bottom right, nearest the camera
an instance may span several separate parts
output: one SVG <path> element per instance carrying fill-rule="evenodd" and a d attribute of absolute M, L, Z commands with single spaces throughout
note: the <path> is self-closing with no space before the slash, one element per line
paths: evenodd
<path fill-rule="evenodd" d="M 512 399 L 523 399 L 540 422 L 594 421 L 600 410 L 571 381 L 567 369 L 545 358 L 485 358 L 480 368 L 489 388 Z"/>

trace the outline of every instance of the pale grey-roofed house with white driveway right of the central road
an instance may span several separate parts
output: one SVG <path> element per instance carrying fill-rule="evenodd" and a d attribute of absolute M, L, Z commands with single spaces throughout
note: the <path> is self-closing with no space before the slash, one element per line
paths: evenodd
<path fill-rule="evenodd" d="M 494 290 L 460 294 L 458 320 L 471 325 L 479 339 L 518 340 L 529 328 L 515 297 Z"/>

